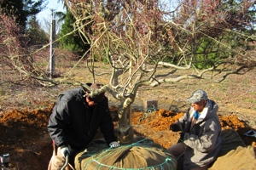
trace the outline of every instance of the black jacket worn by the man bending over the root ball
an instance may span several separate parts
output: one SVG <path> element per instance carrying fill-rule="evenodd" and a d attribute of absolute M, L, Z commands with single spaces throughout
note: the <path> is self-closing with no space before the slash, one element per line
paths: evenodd
<path fill-rule="evenodd" d="M 108 98 L 105 97 L 95 108 L 91 108 L 85 104 L 83 95 L 82 88 L 70 89 L 59 95 L 47 126 L 57 146 L 83 149 L 94 138 L 99 127 L 107 144 L 116 140 Z"/>

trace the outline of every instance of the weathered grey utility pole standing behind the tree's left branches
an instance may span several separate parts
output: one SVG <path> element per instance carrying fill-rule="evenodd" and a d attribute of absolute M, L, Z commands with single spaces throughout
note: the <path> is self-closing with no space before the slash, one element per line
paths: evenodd
<path fill-rule="evenodd" d="M 49 77 L 52 78 L 55 74 L 55 13 L 54 9 L 51 10 L 51 25 L 49 37 Z"/>

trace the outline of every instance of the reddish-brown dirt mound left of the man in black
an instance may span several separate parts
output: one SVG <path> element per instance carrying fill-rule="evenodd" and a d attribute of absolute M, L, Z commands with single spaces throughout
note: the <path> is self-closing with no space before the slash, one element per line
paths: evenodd
<path fill-rule="evenodd" d="M 51 140 L 47 123 L 53 105 L 45 110 L 9 111 L 0 117 L 0 154 L 9 153 L 9 167 L 47 169 Z"/>

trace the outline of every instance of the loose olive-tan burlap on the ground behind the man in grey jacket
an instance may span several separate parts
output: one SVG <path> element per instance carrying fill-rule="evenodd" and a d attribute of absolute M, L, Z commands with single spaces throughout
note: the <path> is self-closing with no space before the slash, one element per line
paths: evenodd
<path fill-rule="evenodd" d="M 222 139 L 223 146 L 218 159 L 208 170 L 256 169 L 253 146 L 246 146 L 235 130 L 224 130 Z"/>

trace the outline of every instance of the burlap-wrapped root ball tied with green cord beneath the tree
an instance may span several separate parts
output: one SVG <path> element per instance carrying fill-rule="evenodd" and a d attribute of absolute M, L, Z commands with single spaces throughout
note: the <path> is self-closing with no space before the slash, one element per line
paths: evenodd
<path fill-rule="evenodd" d="M 145 146 L 120 146 L 80 161 L 81 169 L 177 169 L 177 160 L 165 150 Z"/>

